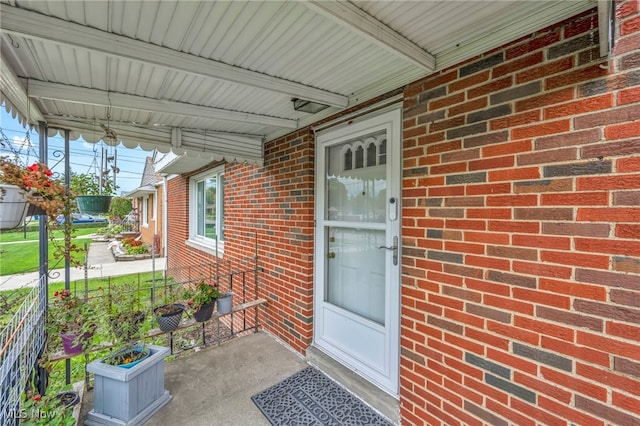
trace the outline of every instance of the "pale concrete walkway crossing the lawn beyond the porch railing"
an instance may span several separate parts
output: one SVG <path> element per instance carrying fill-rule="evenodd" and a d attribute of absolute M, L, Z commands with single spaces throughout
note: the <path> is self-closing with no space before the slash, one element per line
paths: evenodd
<path fill-rule="evenodd" d="M 162 271 L 165 269 L 166 259 L 159 257 L 156 259 L 130 260 L 116 262 L 111 250 L 107 248 L 109 243 L 93 241 L 89 246 L 87 276 L 89 278 L 113 277 L 119 275 L 130 275 L 142 272 Z M 84 279 L 84 267 L 71 267 L 69 278 L 71 281 Z M 54 269 L 49 272 L 49 282 L 63 282 L 65 280 L 64 268 Z M 14 290 L 23 287 L 35 287 L 38 284 L 38 272 L 26 274 L 7 275 L 0 277 L 0 291 Z"/>

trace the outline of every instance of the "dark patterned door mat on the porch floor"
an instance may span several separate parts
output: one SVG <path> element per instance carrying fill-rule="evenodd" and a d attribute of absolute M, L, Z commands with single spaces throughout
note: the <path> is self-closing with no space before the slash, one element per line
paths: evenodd
<path fill-rule="evenodd" d="M 251 400 L 274 426 L 392 425 L 314 367 L 298 371 Z"/>

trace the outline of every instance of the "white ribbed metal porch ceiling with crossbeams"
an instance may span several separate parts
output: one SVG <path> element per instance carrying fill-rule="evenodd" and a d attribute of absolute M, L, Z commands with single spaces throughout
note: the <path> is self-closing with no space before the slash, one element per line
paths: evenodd
<path fill-rule="evenodd" d="M 595 5 L 0 0 L 2 99 L 92 142 L 111 110 L 127 147 L 260 162 L 264 140 Z"/>

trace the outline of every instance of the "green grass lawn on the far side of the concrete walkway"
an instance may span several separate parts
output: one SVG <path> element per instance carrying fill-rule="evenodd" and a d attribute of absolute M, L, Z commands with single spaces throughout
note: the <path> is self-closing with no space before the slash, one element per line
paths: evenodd
<path fill-rule="evenodd" d="M 90 243 L 91 239 L 87 235 L 93 234 L 96 229 L 78 228 L 74 232 L 74 244 L 83 247 L 85 242 Z M 0 234 L 0 276 L 22 274 L 38 270 L 40 263 L 38 231 L 28 231 L 25 235 L 22 232 L 3 232 Z M 56 238 L 62 238 L 62 231 L 55 231 Z M 50 269 L 64 267 L 64 260 L 58 262 L 53 254 L 53 244 L 49 242 L 49 267 Z M 76 262 L 84 261 L 84 251 L 73 253 Z"/>

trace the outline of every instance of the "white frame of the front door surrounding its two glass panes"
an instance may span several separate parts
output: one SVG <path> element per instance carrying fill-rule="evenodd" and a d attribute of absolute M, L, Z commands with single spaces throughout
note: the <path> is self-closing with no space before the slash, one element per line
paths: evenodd
<path fill-rule="evenodd" d="M 399 368 L 400 368 L 400 268 L 401 268 L 401 171 L 402 171 L 402 109 L 400 105 L 385 108 L 363 117 L 359 117 L 346 125 L 336 126 L 318 132 L 316 135 L 316 230 L 315 230 L 315 259 L 314 262 L 314 346 L 327 353 L 338 362 L 346 365 L 354 372 L 391 394 L 399 395 Z M 340 310 L 334 305 L 325 302 L 325 279 L 327 262 L 327 242 L 325 239 L 325 222 L 335 224 L 335 221 L 325 220 L 326 200 L 326 164 L 325 148 L 338 144 L 359 135 L 365 135 L 374 131 L 386 129 L 387 131 L 387 216 L 386 222 L 369 229 L 384 230 L 385 245 L 393 246 L 397 242 L 397 251 L 384 250 L 385 255 L 385 325 L 370 324 L 369 328 L 384 329 L 382 337 L 373 345 L 382 353 L 376 354 L 381 361 L 372 363 L 362 357 L 354 357 L 353 353 L 341 344 L 331 339 L 331 330 L 325 330 L 326 324 L 331 324 L 327 318 L 332 312 Z M 390 199 L 394 203 L 390 203 Z M 393 212 L 392 210 L 395 210 Z M 356 228 L 357 223 L 349 223 L 347 226 Z M 394 237 L 396 239 L 394 240 Z M 394 255 L 396 261 L 394 262 Z M 340 318 L 344 321 L 362 321 L 357 315 L 341 310 Z M 366 322 L 366 320 L 365 320 Z M 335 324 L 335 323 L 334 323 Z M 327 326 L 329 328 L 330 326 Z M 333 327 L 335 328 L 335 327 Z M 348 328 L 348 327 L 347 327 Z M 379 330 L 378 330 L 379 332 Z M 354 336 L 363 339 L 362 336 Z M 382 340 L 383 339 L 383 340 Z M 365 340 L 366 341 L 366 340 Z M 365 342 L 361 340 L 360 342 Z M 369 344 L 368 342 L 366 344 Z M 375 364 L 375 365 L 374 365 Z"/>

